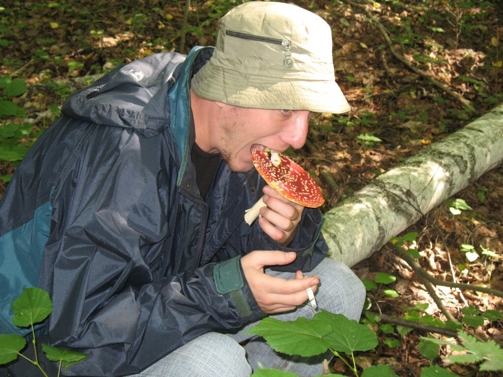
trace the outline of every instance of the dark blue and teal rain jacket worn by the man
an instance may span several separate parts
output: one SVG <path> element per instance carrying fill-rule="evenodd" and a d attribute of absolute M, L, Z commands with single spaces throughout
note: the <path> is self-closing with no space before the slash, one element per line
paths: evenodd
<path fill-rule="evenodd" d="M 279 268 L 290 271 L 326 253 L 318 210 L 304 211 L 288 248 L 243 221 L 262 195 L 255 170 L 220 161 L 201 198 L 189 87 L 211 54 L 154 54 L 72 95 L 0 202 L 0 328 L 16 331 L 23 288 L 48 291 L 50 343 L 89 355 L 68 375 L 137 373 L 204 333 L 264 317 L 239 263 L 250 251 L 295 251 Z"/>

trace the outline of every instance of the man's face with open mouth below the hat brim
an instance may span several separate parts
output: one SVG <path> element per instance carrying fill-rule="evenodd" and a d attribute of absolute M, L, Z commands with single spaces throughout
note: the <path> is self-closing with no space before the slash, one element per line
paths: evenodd
<path fill-rule="evenodd" d="M 253 168 L 251 149 L 283 152 L 301 148 L 307 136 L 309 111 L 246 109 L 218 103 L 221 117 L 211 132 L 211 144 L 232 171 Z"/>

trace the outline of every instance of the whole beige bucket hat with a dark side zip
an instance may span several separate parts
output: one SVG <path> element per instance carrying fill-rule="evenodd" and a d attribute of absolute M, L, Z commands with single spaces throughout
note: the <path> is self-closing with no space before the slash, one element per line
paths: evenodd
<path fill-rule="evenodd" d="M 213 55 L 191 87 L 201 98 L 244 108 L 351 110 L 335 81 L 330 27 L 284 3 L 244 3 L 222 17 Z"/>

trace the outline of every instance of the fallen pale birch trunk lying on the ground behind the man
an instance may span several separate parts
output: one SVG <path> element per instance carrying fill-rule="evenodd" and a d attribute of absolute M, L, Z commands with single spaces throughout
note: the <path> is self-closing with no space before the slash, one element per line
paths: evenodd
<path fill-rule="evenodd" d="M 501 162 L 503 104 L 326 212 L 328 256 L 355 265 Z"/>

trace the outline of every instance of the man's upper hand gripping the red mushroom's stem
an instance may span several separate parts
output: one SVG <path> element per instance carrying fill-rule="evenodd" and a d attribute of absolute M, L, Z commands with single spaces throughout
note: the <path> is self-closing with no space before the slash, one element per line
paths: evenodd
<path fill-rule="evenodd" d="M 295 235 L 304 207 L 279 195 L 271 186 L 264 186 L 264 203 L 259 224 L 264 232 L 281 245 L 288 245 Z"/>

